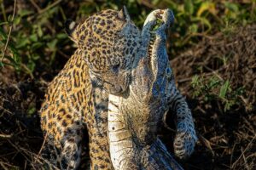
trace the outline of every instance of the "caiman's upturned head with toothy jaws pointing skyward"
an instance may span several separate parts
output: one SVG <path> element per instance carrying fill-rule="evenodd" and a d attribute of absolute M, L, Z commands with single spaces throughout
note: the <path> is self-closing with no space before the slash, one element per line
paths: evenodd
<path fill-rule="evenodd" d="M 157 20 L 160 26 L 156 28 Z M 131 94 L 141 102 L 154 103 L 163 99 L 166 86 L 172 77 L 172 70 L 166 54 L 166 31 L 174 20 L 170 9 L 154 10 L 148 14 L 143 26 L 143 36 L 148 38 L 147 54 L 137 59 L 137 65 L 132 71 Z M 145 42 L 147 44 L 147 42 Z"/>

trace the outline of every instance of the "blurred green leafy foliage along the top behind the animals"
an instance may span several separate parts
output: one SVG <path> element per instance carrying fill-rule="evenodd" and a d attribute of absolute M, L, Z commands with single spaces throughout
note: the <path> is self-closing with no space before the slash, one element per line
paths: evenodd
<path fill-rule="evenodd" d="M 65 62 L 72 54 L 72 42 L 63 31 L 65 20 L 79 20 L 102 9 L 119 9 L 125 5 L 141 28 L 151 10 L 171 8 L 176 17 L 168 43 L 171 58 L 200 42 L 202 37 L 218 31 L 228 35 L 235 26 L 247 25 L 256 18 L 255 0 L 18 0 L 15 14 L 14 0 L 0 2 L 0 66 L 12 65 L 15 71 L 30 77 L 37 76 L 37 70 L 45 67 L 60 69 L 53 65 L 56 55 L 61 55 Z"/>

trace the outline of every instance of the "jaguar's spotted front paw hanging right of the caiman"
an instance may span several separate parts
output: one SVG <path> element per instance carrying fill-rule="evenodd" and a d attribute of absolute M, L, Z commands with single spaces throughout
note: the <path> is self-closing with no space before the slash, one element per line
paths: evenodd
<path fill-rule="evenodd" d="M 174 140 L 174 153 L 180 159 L 189 157 L 195 148 L 197 137 L 195 131 L 178 130 Z"/>

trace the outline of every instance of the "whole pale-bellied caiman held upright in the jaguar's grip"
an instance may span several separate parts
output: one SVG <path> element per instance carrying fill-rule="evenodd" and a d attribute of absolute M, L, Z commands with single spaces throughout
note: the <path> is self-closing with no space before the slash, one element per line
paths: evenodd
<path fill-rule="evenodd" d="M 154 31 L 157 14 L 163 21 Z M 178 169 L 177 162 L 157 139 L 161 117 L 166 112 L 166 29 L 170 10 L 154 10 L 143 27 L 141 50 L 131 71 L 129 93 L 109 94 L 108 144 L 113 167 L 121 169 Z M 168 93 L 171 93 L 170 91 Z"/>

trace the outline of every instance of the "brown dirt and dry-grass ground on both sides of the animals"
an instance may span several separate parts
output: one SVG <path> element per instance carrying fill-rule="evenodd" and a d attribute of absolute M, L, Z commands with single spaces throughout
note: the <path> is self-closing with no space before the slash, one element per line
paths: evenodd
<path fill-rule="evenodd" d="M 195 47 L 172 59 L 177 86 L 187 97 L 199 137 L 195 153 L 179 161 L 185 169 L 256 169 L 255 54 L 256 25 L 251 25 L 203 37 Z M 223 56 L 226 63 L 219 62 Z M 56 72 L 38 72 L 38 78 L 32 80 L 19 77 L 8 67 L 1 70 L 0 169 L 38 169 L 36 165 L 44 162 L 38 154 L 44 141 L 38 110 L 47 82 Z M 229 79 L 232 88 L 244 87 L 244 93 L 238 104 L 224 111 L 218 99 L 205 101 L 204 94 L 193 96 L 195 75 Z M 168 123 L 173 127 L 171 115 Z M 171 152 L 173 135 L 167 129 L 160 132 Z"/>

